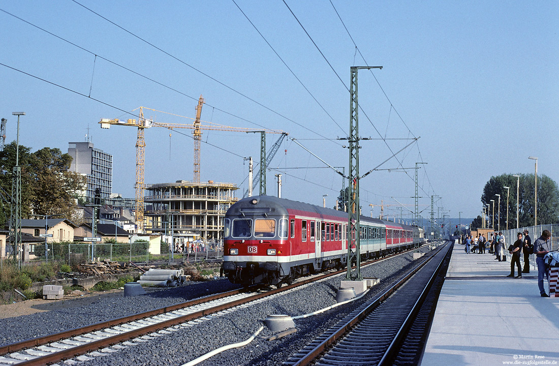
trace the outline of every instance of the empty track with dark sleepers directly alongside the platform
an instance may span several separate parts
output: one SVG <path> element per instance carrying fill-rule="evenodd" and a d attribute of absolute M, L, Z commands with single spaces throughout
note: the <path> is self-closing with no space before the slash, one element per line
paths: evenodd
<path fill-rule="evenodd" d="M 433 284 L 444 276 L 451 253 L 452 245 L 441 246 L 429 260 L 349 313 L 283 365 L 417 364 L 438 297 Z"/>

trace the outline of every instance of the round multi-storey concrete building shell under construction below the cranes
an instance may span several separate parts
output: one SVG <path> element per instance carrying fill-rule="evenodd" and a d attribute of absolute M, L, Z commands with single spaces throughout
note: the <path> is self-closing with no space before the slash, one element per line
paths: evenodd
<path fill-rule="evenodd" d="M 202 240 L 220 241 L 223 235 L 225 212 L 238 198 L 232 183 L 175 183 L 149 184 L 145 188 L 145 230 L 152 233 L 186 235 L 200 234 Z"/>

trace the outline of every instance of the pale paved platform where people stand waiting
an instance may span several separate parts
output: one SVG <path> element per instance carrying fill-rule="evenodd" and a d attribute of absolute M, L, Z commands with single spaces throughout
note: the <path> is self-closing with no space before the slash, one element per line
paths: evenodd
<path fill-rule="evenodd" d="M 540 296 L 537 269 L 508 274 L 510 257 L 454 245 L 421 366 L 559 365 L 559 297 Z"/>

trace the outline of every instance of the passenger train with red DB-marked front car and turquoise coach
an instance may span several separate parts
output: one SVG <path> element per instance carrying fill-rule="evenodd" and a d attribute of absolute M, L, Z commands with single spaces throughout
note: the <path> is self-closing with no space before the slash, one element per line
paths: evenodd
<path fill-rule="evenodd" d="M 222 270 L 232 283 L 282 283 L 347 265 L 347 212 L 273 196 L 241 199 L 225 215 Z M 423 229 L 361 216 L 362 259 L 412 248 Z"/>

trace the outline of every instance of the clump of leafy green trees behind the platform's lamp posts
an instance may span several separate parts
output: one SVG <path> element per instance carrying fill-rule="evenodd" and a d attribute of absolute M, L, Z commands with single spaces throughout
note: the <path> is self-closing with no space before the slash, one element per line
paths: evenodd
<path fill-rule="evenodd" d="M 534 174 L 518 174 L 519 178 L 519 227 L 534 225 Z M 512 174 L 501 174 L 491 177 L 485 184 L 484 193 L 481 196 L 481 203 L 489 203 L 487 219 L 491 227 L 493 220 L 495 229 L 498 229 L 500 213 L 500 229 L 506 227 L 506 188 L 509 191 L 509 229 L 517 227 L 517 177 Z M 499 209 L 499 197 L 501 195 L 501 206 Z M 493 212 L 493 202 L 495 200 L 495 212 Z M 538 224 L 555 224 L 559 222 L 559 188 L 557 183 L 547 177 L 538 175 Z"/>

